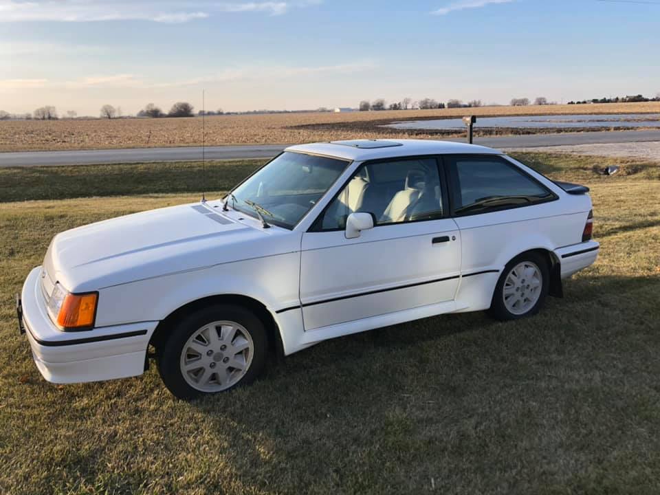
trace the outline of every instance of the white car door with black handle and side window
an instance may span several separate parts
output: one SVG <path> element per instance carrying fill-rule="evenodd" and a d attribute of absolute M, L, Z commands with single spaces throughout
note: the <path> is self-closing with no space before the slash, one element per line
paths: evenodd
<path fill-rule="evenodd" d="M 448 215 L 436 157 L 366 162 L 303 234 L 300 301 L 305 330 L 454 299 L 461 236 Z M 347 239 L 345 221 L 374 227 Z"/>

